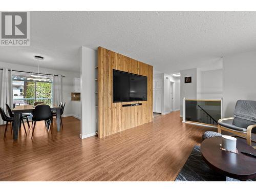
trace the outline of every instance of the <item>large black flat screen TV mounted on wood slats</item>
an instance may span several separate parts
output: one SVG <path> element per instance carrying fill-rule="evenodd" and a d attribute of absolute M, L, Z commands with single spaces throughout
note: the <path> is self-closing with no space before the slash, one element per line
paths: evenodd
<path fill-rule="evenodd" d="M 113 102 L 146 101 L 147 77 L 113 69 Z"/>

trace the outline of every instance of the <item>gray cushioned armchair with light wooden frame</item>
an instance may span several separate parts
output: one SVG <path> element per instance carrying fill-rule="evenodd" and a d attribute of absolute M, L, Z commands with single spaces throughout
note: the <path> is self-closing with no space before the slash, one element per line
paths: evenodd
<path fill-rule="evenodd" d="M 219 119 L 218 133 L 222 130 L 246 138 L 251 145 L 251 133 L 256 133 L 256 101 L 238 100 L 234 117 Z"/>

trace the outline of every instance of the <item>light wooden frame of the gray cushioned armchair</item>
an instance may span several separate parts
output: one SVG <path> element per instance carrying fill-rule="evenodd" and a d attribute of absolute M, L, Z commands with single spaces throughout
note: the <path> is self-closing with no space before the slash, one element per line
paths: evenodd
<path fill-rule="evenodd" d="M 233 133 L 239 137 L 242 137 L 242 138 L 246 138 L 246 142 L 248 145 L 251 146 L 251 141 L 253 142 L 256 142 L 254 140 L 251 140 L 251 130 L 253 128 L 256 127 L 256 124 L 253 124 L 253 125 L 249 125 L 247 127 L 247 131 L 246 132 L 243 132 L 243 131 L 238 131 L 238 130 L 233 130 L 233 129 L 230 129 L 230 128 L 227 128 L 227 127 L 224 127 L 224 126 L 221 126 L 219 123 L 224 121 L 224 120 L 229 120 L 229 119 L 233 119 L 233 117 L 228 117 L 228 118 L 222 118 L 222 119 L 219 119 L 218 121 L 218 133 L 221 133 L 221 130 L 223 131 L 226 131 L 226 132 L 230 132 L 230 133 Z M 256 146 L 252 146 L 253 148 L 256 148 Z"/>

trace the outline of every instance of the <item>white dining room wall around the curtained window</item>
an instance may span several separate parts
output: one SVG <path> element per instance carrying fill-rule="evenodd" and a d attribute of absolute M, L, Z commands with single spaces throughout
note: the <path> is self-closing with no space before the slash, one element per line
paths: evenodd
<path fill-rule="evenodd" d="M 8 62 L 1 62 L 1 61 L 0 61 L 0 68 L 8 68 L 8 69 L 12 69 L 12 70 L 28 71 L 28 72 L 37 73 L 37 67 L 19 65 L 19 64 L 8 63 Z M 80 73 L 79 72 L 52 70 L 52 69 L 46 69 L 46 68 L 41 68 L 41 67 L 39 68 L 39 73 L 46 73 L 46 72 L 47 72 L 47 74 L 65 75 L 65 77 L 62 77 L 62 98 L 63 98 L 63 101 L 66 102 L 63 116 L 75 116 L 75 117 L 80 118 L 81 117 L 80 102 L 79 101 L 71 101 L 71 92 L 73 91 L 73 78 L 80 77 Z M 2 73 L 3 73 L 3 71 L 0 70 L 1 81 L 2 81 Z"/>

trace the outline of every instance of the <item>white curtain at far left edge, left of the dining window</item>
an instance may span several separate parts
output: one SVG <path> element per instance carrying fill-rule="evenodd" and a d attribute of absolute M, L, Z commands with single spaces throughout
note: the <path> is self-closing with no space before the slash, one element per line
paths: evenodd
<path fill-rule="evenodd" d="M 3 69 L 2 74 L 2 83 L 1 83 L 1 97 L 0 97 L 0 106 L 4 109 L 7 116 L 9 116 L 6 105 L 7 103 L 10 108 L 13 107 L 13 98 L 12 98 L 12 70 Z M 0 124 L 4 124 L 3 119 L 0 119 Z"/>

